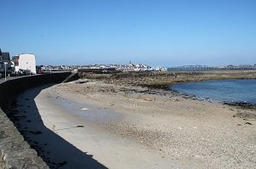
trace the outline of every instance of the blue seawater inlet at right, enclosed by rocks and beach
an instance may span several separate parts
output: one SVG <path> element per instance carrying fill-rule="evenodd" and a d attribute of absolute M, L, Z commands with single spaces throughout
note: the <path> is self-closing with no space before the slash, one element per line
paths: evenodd
<path fill-rule="evenodd" d="M 256 104 L 256 80 L 185 82 L 172 85 L 171 89 L 179 93 L 195 95 L 200 99 Z"/>

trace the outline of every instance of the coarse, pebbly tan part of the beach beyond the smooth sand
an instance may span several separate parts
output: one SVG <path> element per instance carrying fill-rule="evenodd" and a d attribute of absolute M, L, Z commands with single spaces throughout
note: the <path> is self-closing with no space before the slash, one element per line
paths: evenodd
<path fill-rule="evenodd" d="M 123 115 L 107 119 L 108 131 L 154 149 L 164 158 L 198 168 L 255 166 L 255 119 L 236 116 L 255 114 L 254 110 L 88 79 L 58 85 L 55 91 L 60 98 Z"/>

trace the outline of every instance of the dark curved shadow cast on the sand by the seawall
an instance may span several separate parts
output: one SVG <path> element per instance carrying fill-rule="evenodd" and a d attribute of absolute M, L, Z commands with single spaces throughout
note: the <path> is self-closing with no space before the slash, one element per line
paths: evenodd
<path fill-rule="evenodd" d="M 94 160 L 93 155 L 82 152 L 44 126 L 34 99 L 41 90 L 52 85 L 32 88 L 20 94 L 6 110 L 9 119 L 49 168 L 107 168 Z"/>

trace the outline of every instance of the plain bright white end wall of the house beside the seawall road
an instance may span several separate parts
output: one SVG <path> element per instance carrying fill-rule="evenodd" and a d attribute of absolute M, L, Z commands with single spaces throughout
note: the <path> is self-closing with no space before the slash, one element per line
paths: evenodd
<path fill-rule="evenodd" d="M 36 56 L 34 54 L 20 54 L 19 69 L 31 70 L 33 74 L 36 74 Z"/>

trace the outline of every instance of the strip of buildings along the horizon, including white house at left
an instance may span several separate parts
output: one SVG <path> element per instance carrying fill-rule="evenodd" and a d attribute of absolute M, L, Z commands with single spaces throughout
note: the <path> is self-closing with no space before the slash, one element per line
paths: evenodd
<path fill-rule="evenodd" d="M 0 48 L 0 78 L 3 76 L 22 76 L 42 74 L 52 71 L 100 70 L 108 71 L 191 71 L 191 70 L 256 70 L 254 65 L 183 65 L 177 67 L 152 67 L 144 64 L 128 63 L 127 65 L 36 65 L 35 54 L 18 54 L 10 58 L 9 52 Z"/>

